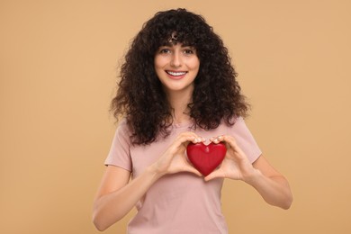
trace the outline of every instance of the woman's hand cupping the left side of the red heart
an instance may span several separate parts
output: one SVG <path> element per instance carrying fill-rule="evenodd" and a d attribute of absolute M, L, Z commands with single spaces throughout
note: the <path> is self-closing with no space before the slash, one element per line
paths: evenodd
<path fill-rule="evenodd" d="M 185 150 L 190 142 L 195 144 L 202 141 L 204 141 L 204 139 L 190 131 L 179 134 L 163 155 L 151 165 L 151 168 L 161 176 L 178 172 L 191 172 L 201 176 L 201 173 L 187 160 Z"/>

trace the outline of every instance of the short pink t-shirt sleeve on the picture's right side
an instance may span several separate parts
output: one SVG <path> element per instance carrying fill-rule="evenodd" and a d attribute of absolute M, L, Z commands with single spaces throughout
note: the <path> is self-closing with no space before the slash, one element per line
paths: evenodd
<path fill-rule="evenodd" d="M 256 140 L 250 130 L 248 130 L 242 117 L 239 117 L 235 121 L 230 134 L 237 141 L 238 147 L 244 151 L 251 163 L 255 162 L 262 155 L 261 149 L 258 147 Z"/>

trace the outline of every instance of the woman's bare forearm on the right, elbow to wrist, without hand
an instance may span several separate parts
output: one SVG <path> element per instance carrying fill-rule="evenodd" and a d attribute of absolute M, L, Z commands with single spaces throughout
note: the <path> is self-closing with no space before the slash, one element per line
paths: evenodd
<path fill-rule="evenodd" d="M 268 177 L 256 169 L 255 173 L 245 178 L 244 181 L 251 184 L 267 203 L 285 210 L 290 208 L 293 194 L 283 175 Z"/>

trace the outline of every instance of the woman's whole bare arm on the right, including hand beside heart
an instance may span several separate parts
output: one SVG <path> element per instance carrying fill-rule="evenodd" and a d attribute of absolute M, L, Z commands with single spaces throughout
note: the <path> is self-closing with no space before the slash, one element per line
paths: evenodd
<path fill-rule="evenodd" d="M 290 208 L 293 194 L 289 183 L 283 175 L 269 165 L 265 157 L 260 156 L 251 164 L 234 138 L 220 136 L 211 140 L 214 143 L 224 141 L 227 146 L 227 155 L 220 168 L 205 177 L 206 181 L 215 177 L 242 180 L 252 185 L 269 204 L 283 209 Z"/>

